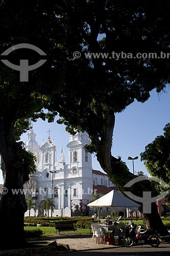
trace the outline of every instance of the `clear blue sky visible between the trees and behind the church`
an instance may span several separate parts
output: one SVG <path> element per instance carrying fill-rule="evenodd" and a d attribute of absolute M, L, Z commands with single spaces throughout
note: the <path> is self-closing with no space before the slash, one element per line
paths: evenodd
<path fill-rule="evenodd" d="M 121 156 L 122 160 L 127 163 L 128 168 L 133 172 L 132 158 L 138 156 L 134 160 L 135 172 L 142 170 L 144 174 L 148 174 L 143 162 L 140 161 L 140 153 L 144 151 L 144 147 L 151 143 L 157 136 L 163 135 L 163 128 L 166 123 L 170 122 L 170 90 L 157 94 L 151 92 L 151 97 L 144 103 L 133 102 L 127 109 L 116 114 L 115 127 L 113 132 L 112 155 Z M 55 143 L 58 147 L 57 159 L 60 158 L 61 147 L 64 146 L 65 159 L 67 162 L 68 152 L 67 143 L 69 134 L 65 132 L 65 126 L 56 122 L 48 123 L 47 121 L 38 120 L 33 123 L 33 130 L 36 133 L 36 140 L 39 145 L 42 139 L 47 140 L 48 129 L 52 132 L 51 138 L 55 137 Z M 21 140 L 26 142 L 27 133 L 21 136 Z M 102 170 L 95 156 L 92 156 L 93 169 Z M 3 183 L 2 172 L 0 174 L 0 183 Z"/>

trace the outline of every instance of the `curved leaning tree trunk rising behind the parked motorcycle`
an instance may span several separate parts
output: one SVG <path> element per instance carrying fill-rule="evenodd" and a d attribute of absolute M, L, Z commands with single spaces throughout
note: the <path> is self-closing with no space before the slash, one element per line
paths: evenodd
<path fill-rule="evenodd" d="M 94 133 L 89 133 L 89 137 L 94 145 L 97 159 L 103 168 L 103 170 L 108 174 L 109 179 L 117 186 L 117 188 L 125 195 L 125 184 L 127 184 L 132 179 L 137 176 L 129 172 L 127 165 L 120 161 L 121 159 L 116 159 L 111 155 L 111 141 L 113 136 L 113 128 L 115 123 L 115 117 L 113 113 L 105 111 L 103 114 L 103 129 L 101 139 L 96 136 Z M 151 185 L 146 182 L 136 183 L 131 191 L 134 191 L 134 194 L 137 193 L 138 196 L 142 196 L 143 191 L 150 191 L 152 189 Z M 127 195 L 125 195 L 127 197 Z M 137 202 L 141 204 L 140 202 Z M 158 207 L 156 203 L 152 203 L 152 212 L 151 214 L 143 214 L 142 204 L 139 208 L 141 213 L 144 227 L 158 229 L 158 232 L 161 235 L 168 235 L 169 232 L 163 225 L 163 222 L 158 213 Z"/>

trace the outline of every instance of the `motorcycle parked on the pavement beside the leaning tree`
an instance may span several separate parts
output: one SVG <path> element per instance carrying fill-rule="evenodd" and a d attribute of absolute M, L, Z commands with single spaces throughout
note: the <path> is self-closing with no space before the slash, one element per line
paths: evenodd
<path fill-rule="evenodd" d="M 131 225 L 129 233 L 123 239 L 125 247 L 132 245 L 149 244 L 152 247 L 158 247 L 160 244 L 160 236 L 155 229 L 140 230 L 141 226 Z"/>

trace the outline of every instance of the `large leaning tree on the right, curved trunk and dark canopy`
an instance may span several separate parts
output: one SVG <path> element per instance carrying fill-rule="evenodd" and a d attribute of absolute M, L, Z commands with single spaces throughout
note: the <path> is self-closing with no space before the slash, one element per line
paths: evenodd
<path fill-rule="evenodd" d="M 67 28 L 68 58 L 63 70 L 67 89 L 54 93 L 47 108 L 60 114 L 58 122 L 67 131 L 89 134 L 91 145 L 86 149 L 96 153 L 103 170 L 123 193 L 124 185 L 136 176 L 111 155 L 115 113 L 135 99 L 148 100 L 150 91 L 160 92 L 169 83 L 169 60 L 162 57 L 169 50 L 169 8 L 168 1 L 164 5 L 160 1 L 71 1 L 61 15 Z M 103 35 L 101 40 L 99 35 Z M 121 57 L 114 58 L 115 53 Z M 131 191 L 140 197 L 143 191 L 156 196 L 155 184 L 149 180 L 135 184 Z M 140 212 L 145 227 L 168 233 L 155 203 L 152 214 L 143 214 L 142 205 Z"/>

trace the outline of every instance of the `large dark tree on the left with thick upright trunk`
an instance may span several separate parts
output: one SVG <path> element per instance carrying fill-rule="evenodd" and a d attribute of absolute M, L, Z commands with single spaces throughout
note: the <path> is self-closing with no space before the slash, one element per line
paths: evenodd
<path fill-rule="evenodd" d="M 46 5 L 44 9 L 43 2 L 39 5 L 39 1 L 29 4 L 27 1 L 0 1 L 0 52 L 17 44 L 28 43 L 39 47 L 48 56 L 43 66 L 29 72 L 28 82 L 20 82 L 19 72 L 0 61 L 0 154 L 5 187 L 0 201 L 1 249 L 25 246 L 23 220 L 27 204 L 22 189 L 29 180 L 29 174 L 35 172 L 36 168 L 35 157 L 25 151 L 19 139 L 29 129 L 30 118 L 34 120 L 34 113 L 42 110 L 51 89 L 57 91 L 57 74 L 61 66 L 54 70 L 55 59 L 50 54 L 58 57 L 58 65 L 62 57 L 56 47 L 60 44 L 59 39 L 53 40 L 53 36 L 58 38 L 59 33 L 57 29 L 57 35 L 53 32 L 57 24 L 51 7 Z M 29 59 L 29 65 L 32 65 L 40 57 L 35 51 L 21 49 L 13 51 L 5 59 L 15 65 L 19 65 L 20 59 Z M 14 194 L 16 190 L 18 193 Z M 9 233 L 12 239 L 7 243 Z"/>

